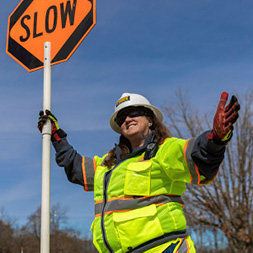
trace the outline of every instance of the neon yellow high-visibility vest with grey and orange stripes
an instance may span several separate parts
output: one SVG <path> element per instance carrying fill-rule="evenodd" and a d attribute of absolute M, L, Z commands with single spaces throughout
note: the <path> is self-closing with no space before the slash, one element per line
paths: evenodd
<path fill-rule="evenodd" d="M 144 252 L 186 233 L 181 196 L 186 183 L 208 184 L 194 164 L 195 140 L 167 138 L 154 157 L 145 150 L 113 168 L 106 156 L 83 157 L 84 189 L 94 190 L 93 243 L 99 252 Z"/>

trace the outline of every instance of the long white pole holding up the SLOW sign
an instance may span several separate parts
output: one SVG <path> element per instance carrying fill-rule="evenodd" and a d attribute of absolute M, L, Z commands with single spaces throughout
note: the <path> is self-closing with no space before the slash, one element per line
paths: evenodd
<path fill-rule="evenodd" d="M 43 110 L 51 110 L 51 43 L 44 43 Z M 50 252 L 50 154 L 51 122 L 42 129 L 42 191 L 40 252 Z"/>

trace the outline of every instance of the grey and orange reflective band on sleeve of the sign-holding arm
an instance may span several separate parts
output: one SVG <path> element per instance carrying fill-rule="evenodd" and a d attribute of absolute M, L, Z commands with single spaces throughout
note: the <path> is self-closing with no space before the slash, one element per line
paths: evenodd
<path fill-rule="evenodd" d="M 94 191 L 94 176 L 95 168 L 93 159 L 89 157 L 83 157 L 83 178 L 84 178 L 84 189 L 86 191 Z"/>

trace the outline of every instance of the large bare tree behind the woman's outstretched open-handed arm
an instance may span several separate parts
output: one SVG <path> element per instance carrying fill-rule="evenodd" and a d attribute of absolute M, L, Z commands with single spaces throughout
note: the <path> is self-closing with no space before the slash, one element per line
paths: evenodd
<path fill-rule="evenodd" d="M 177 90 L 176 99 L 163 109 L 170 132 L 177 137 L 195 137 L 211 129 L 212 117 L 193 108 L 189 92 Z M 218 101 L 217 101 L 218 103 Z M 253 251 L 253 91 L 240 99 L 240 117 L 227 145 L 220 171 L 209 186 L 188 185 L 185 195 L 188 223 L 200 224 L 213 233 L 222 231 L 230 252 Z M 216 243 L 216 244 L 215 244 Z M 218 248 L 217 242 L 213 247 Z"/>

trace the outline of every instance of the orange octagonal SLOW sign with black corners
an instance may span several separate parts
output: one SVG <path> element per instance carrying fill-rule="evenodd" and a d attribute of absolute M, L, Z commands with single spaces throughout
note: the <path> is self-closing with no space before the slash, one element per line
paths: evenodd
<path fill-rule="evenodd" d="M 9 17 L 6 52 L 28 71 L 67 61 L 96 23 L 95 0 L 23 0 Z"/>

